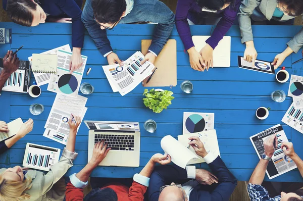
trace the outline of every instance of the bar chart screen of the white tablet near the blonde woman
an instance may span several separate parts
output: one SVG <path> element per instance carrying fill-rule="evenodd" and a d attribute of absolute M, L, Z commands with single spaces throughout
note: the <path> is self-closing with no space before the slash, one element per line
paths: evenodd
<path fill-rule="evenodd" d="M 59 149 L 30 144 L 26 163 L 47 170 L 56 163 L 59 154 Z"/>

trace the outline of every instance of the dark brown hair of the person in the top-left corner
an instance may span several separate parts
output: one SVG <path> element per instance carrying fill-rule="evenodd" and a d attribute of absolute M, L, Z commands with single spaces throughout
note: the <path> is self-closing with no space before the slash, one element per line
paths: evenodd
<path fill-rule="evenodd" d="M 30 27 L 33 22 L 31 11 L 36 9 L 37 5 L 31 0 L 8 0 L 6 12 L 16 24 Z"/>

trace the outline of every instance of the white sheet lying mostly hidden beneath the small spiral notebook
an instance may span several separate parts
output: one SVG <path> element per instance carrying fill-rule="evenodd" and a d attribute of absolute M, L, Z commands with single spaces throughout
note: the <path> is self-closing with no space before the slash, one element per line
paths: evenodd
<path fill-rule="evenodd" d="M 51 49 L 49 51 L 43 52 L 41 54 L 57 55 L 57 52 L 59 49 L 62 49 L 63 51 L 66 51 L 66 52 L 72 52 L 69 44 L 66 44 L 66 45 L 57 47 L 55 49 Z M 28 61 L 31 62 L 32 57 L 29 57 Z M 34 77 L 35 77 L 35 80 L 36 80 L 36 83 L 38 86 L 47 84 L 49 82 L 49 79 L 51 79 L 51 75 L 52 75 L 51 73 L 33 73 L 33 74 L 34 74 Z"/>

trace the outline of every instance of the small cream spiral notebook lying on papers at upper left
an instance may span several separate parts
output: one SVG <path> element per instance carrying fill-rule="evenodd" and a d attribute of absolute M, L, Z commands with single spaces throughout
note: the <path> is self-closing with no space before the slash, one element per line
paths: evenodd
<path fill-rule="evenodd" d="M 57 55 L 33 54 L 32 72 L 34 73 L 57 73 Z"/>

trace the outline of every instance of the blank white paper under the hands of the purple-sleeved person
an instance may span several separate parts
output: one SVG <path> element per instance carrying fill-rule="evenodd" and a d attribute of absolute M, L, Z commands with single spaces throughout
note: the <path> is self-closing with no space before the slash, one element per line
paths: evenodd
<path fill-rule="evenodd" d="M 209 37 L 210 36 L 207 35 L 192 36 L 194 48 L 197 52 L 200 52 L 200 50 L 207 44 L 206 40 Z M 230 36 L 224 36 L 223 39 L 220 40 L 213 52 L 214 67 L 230 67 L 230 44 Z"/>

